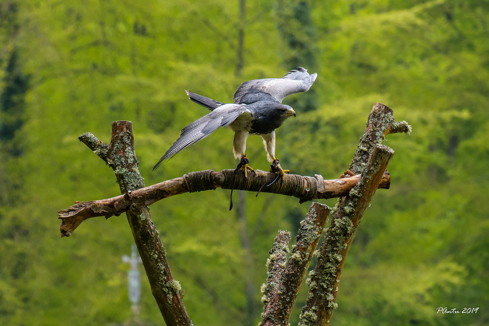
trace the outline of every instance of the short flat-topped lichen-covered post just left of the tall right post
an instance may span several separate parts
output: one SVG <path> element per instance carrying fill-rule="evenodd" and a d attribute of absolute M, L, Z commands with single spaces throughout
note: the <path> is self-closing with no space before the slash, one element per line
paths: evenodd
<path fill-rule="evenodd" d="M 314 202 L 306 218 L 301 221 L 297 243 L 292 248 L 280 283 L 274 293 L 268 295 L 270 298 L 267 298 L 269 302 L 264 308 L 261 325 L 289 325 L 290 313 L 311 263 L 313 252 L 323 234 L 330 210 L 328 206 Z M 268 287 L 268 283 L 265 286 Z M 275 286 L 270 284 L 270 287 Z"/>

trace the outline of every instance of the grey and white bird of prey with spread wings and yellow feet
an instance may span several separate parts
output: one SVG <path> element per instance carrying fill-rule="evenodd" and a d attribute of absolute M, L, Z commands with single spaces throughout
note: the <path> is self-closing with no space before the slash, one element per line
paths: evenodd
<path fill-rule="evenodd" d="M 210 98 L 186 91 L 190 100 L 210 109 L 211 112 L 199 120 L 192 122 L 180 132 L 177 141 L 165 152 L 156 163 L 155 170 L 162 162 L 170 159 L 178 152 L 207 137 L 219 127 L 229 126 L 235 132 L 233 153 L 241 158 L 238 169 L 253 171 L 246 158 L 246 139 L 250 134 L 263 138 L 267 158 L 272 162 L 270 172 L 276 172 L 285 178 L 279 160 L 275 158 L 275 129 L 290 116 L 295 117 L 294 110 L 283 105 L 282 100 L 291 94 L 307 91 L 317 74 L 310 75 L 307 69 L 297 67 L 282 78 L 256 79 L 244 82 L 234 93 L 234 103 L 225 104 Z"/>

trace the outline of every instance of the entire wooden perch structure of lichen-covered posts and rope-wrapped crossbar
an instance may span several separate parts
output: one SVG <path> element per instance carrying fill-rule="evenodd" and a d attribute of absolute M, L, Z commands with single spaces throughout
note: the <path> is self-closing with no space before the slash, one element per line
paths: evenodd
<path fill-rule="evenodd" d="M 394 151 L 380 145 L 385 135 L 411 131 L 405 121 L 396 122 L 389 107 L 376 103 L 370 112 L 367 128 L 360 138 L 349 170 L 349 177 L 335 180 L 287 174 L 285 180 L 275 182 L 264 192 L 296 196 L 300 202 L 312 199 L 340 197 L 333 209 L 330 227 L 321 248 L 314 252 L 330 213 L 328 206 L 312 203 L 301 222 L 297 244 L 287 260 L 290 234 L 280 231 L 275 238 L 267 262 L 267 283 L 262 286 L 264 313 L 261 325 L 288 325 L 290 312 L 304 280 L 312 255 L 318 261 L 306 281 L 309 294 L 303 307 L 299 326 L 329 324 L 336 307 L 338 283 L 346 255 L 356 229 L 378 188 L 389 189 L 390 175 L 386 168 Z M 166 325 L 190 326 L 192 322 L 181 301 L 181 288 L 170 272 L 166 252 L 158 237 L 147 205 L 170 196 L 216 188 L 231 189 L 234 170 L 198 171 L 144 188 L 133 148 L 132 123 L 112 123 L 111 144 L 104 144 L 91 133 L 79 137 L 101 157 L 117 177 L 121 196 L 86 202 L 75 202 L 67 210 L 59 211 L 62 219 L 62 237 L 69 236 L 82 221 L 90 217 L 127 213 L 139 254 L 142 258 L 153 295 Z M 384 173 L 385 172 L 385 173 Z M 258 191 L 275 174 L 257 171 L 244 178 L 240 171 L 234 189 Z"/>

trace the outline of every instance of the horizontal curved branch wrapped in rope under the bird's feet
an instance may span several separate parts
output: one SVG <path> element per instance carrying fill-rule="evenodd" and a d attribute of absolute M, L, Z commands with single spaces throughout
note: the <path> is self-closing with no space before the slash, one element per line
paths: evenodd
<path fill-rule="evenodd" d="M 256 170 L 256 173 L 244 177 L 243 171 L 236 175 L 234 189 L 257 192 L 260 187 L 276 176 L 274 173 Z M 360 180 L 360 174 L 343 178 L 324 180 L 318 187 L 322 177 L 318 179 L 311 176 L 286 174 L 285 180 L 279 179 L 262 192 L 295 196 L 303 203 L 312 199 L 328 199 L 346 196 Z M 231 189 L 234 170 L 198 171 L 185 174 L 182 177 L 167 180 L 155 185 L 141 188 L 127 194 L 102 200 L 75 202 L 66 210 L 58 212 L 63 221 L 60 224 L 62 237 L 68 237 L 81 222 L 90 217 L 119 216 L 129 210 L 131 205 L 151 205 L 158 200 L 184 193 L 194 193 L 216 188 Z M 384 174 L 379 188 L 389 189 L 390 175 Z M 320 190 L 320 191 L 319 191 Z"/>

